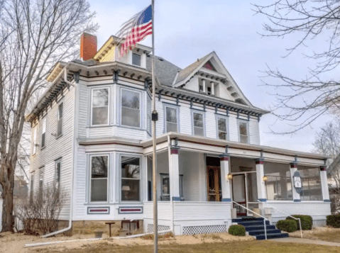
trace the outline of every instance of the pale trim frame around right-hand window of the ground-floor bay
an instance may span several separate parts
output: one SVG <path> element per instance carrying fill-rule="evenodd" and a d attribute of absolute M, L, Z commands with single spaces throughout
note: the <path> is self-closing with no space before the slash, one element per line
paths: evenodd
<path fill-rule="evenodd" d="M 119 203 L 142 203 L 143 202 L 143 155 L 131 153 L 119 153 L 117 159 L 117 181 L 116 181 L 116 200 Z M 139 201 L 122 201 L 121 200 L 121 157 L 139 158 Z"/>

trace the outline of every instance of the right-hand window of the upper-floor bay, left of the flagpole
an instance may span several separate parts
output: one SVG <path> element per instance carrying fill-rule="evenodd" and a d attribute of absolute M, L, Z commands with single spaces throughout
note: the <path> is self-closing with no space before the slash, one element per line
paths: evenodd
<path fill-rule="evenodd" d="M 141 94 L 121 89 L 121 125 L 141 127 Z"/>

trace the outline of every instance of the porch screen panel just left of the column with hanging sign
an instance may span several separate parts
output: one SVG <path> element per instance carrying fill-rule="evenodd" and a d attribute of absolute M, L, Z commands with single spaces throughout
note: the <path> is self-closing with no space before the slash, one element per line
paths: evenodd
<path fill-rule="evenodd" d="M 264 174 L 268 177 L 268 180 L 265 181 L 268 201 L 292 200 L 292 180 L 289 165 L 265 162 Z"/>

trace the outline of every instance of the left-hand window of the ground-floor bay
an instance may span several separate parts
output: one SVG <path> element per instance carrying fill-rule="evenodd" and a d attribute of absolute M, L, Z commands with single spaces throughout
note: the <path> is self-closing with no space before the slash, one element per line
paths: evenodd
<path fill-rule="evenodd" d="M 91 201 L 107 201 L 107 172 L 109 156 L 91 157 Z"/>

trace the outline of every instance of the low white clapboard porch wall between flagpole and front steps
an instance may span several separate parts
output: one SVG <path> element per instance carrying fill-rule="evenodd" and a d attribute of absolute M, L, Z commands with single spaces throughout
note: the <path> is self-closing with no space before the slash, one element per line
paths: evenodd
<path fill-rule="evenodd" d="M 231 203 L 173 202 L 174 221 L 231 219 Z"/>

